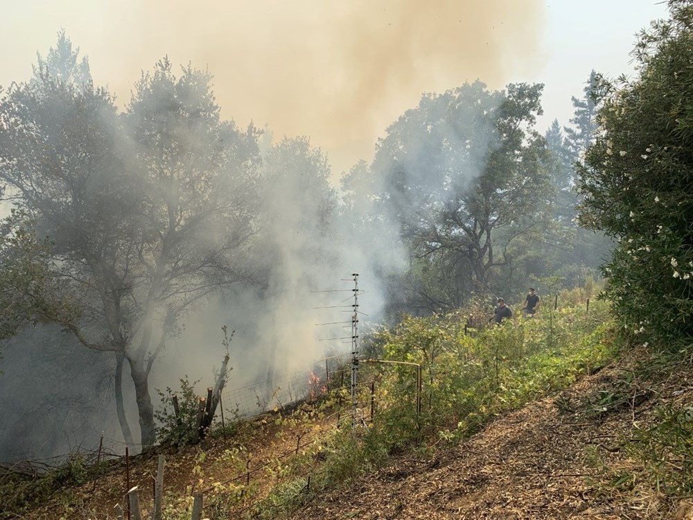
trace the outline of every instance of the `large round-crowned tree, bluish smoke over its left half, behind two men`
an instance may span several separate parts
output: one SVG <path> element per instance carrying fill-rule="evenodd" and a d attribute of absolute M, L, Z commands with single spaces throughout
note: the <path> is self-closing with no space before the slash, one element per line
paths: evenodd
<path fill-rule="evenodd" d="M 432 307 L 491 291 L 514 241 L 540 231 L 550 193 L 545 141 L 534 130 L 541 90 L 490 92 L 477 81 L 427 94 L 378 143 L 380 211 L 401 223 L 416 270 L 437 278 L 437 296 L 419 291 Z"/>

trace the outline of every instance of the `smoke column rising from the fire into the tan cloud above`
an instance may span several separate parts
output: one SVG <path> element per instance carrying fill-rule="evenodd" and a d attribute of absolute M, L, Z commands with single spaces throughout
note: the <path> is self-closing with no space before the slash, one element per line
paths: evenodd
<path fill-rule="evenodd" d="M 263 294 L 241 289 L 186 320 L 177 345 L 157 362 L 151 388 L 176 385 L 184 374 L 209 384 L 211 367 L 225 353 L 222 324 L 238 331 L 231 348 L 233 386 L 268 374 L 271 359 L 281 375 L 303 369 L 325 350 L 348 349 L 339 342 L 319 343 L 347 334 L 338 327 L 317 329 L 315 323 L 346 321 L 349 314 L 338 308 L 312 312 L 312 307 L 346 307 L 350 302 L 342 300 L 350 293 L 337 298 L 313 291 L 348 289 L 350 282 L 342 278 L 359 272 L 360 285 L 369 291 L 361 300 L 363 309 L 374 313 L 383 300 L 376 271 L 398 266 L 402 244 L 394 232 L 388 235 L 392 243 L 373 244 L 367 240 L 376 240 L 376 234 L 364 241 L 356 236 L 358 229 L 320 225 L 328 209 L 320 202 L 334 198 L 313 196 L 315 183 L 293 181 L 312 171 L 322 182 L 334 177 L 330 164 L 342 169 L 369 158 L 378 136 L 415 106 L 422 92 L 442 92 L 479 77 L 491 88 L 502 87 L 516 69 L 534 61 L 543 18 L 538 0 L 42 0 L 9 10 L 10 19 L 29 14 L 31 28 L 6 24 L 2 37 L 13 45 L 1 49 L 12 48 L 13 55 L 0 51 L 8 64 L 5 73 L 15 73 L 11 64 L 17 59 L 30 71 L 35 50 L 51 46 L 62 26 L 89 55 L 95 82 L 108 84 L 121 107 L 140 71 L 168 55 L 174 63 L 207 67 L 225 119 L 240 127 L 251 120 L 266 123 L 275 135 L 310 135 L 310 145 L 326 153 L 300 139 L 270 146 L 263 166 L 263 175 L 273 181 L 263 194 L 271 224 L 263 236 L 272 265 L 269 286 Z M 27 42 L 27 53 L 16 51 L 19 42 Z M 12 80 L 22 80 L 21 75 L 0 76 L 0 84 Z M 286 164 L 292 146 L 304 164 L 272 171 L 272 157 Z M 156 404 L 154 392 L 152 399 Z"/>

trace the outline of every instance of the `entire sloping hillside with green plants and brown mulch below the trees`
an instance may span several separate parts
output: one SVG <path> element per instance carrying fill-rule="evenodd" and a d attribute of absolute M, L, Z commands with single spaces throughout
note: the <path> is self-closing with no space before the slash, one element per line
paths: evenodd
<path fill-rule="evenodd" d="M 326 504 L 339 511 L 335 518 L 376 518 L 368 508 L 353 505 L 353 496 L 374 482 L 380 483 L 373 488 L 376 494 L 387 496 L 392 491 L 387 486 L 402 478 L 426 480 L 429 473 L 441 478 L 445 471 L 439 467 L 450 471 L 471 445 L 480 453 L 471 467 L 480 474 L 516 474 L 506 467 L 508 454 L 498 454 L 502 446 L 512 447 L 512 458 L 521 461 L 517 467 L 525 472 L 534 467 L 537 474 L 551 475 L 550 461 L 560 453 L 568 461 L 561 463 L 561 474 L 584 483 L 579 489 L 587 502 L 611 503 L 617 496 L 651 491 L 656 507 L 650 516 L 635 512 L 633 518 L 660 518 L 656 515 L 672 510 L 685 514 L 693 490 L 693 408 L 681 375 L 687 361 L 627 347 L 629 338 L 617 333 L 602 302 L 592 302 L 588 310 L 577 292 L 563 293 L 560 301 L 557 311 L 545 307 L 537 318 L 517 316 L 502 327 L 487 325 L 486 315 L 470 308 L 403 318 L 394 329 L 373 331 L 362 358 L 409 364 L 362 361 L 356 406 L 344 385 L 291 413 L 236 424 L 232 435 L 217 431 L 195 447 L 159 449 L 167 460 L 165 518 L 190 518 L 192 496 L 200 492 L 209 518 L 281 518 L 299 508 L 313 511 L 315 518 L 328 517 L 332 506 Z M 633 361 L 633 352 L 640 362 Z M 415 365 L 421 367 L 420 391 Z M 570 390 L 576 381 L 581 390 Z M 517 435 L 518 428 L 509 426 L 513 421 L 524 428 Z M 527 437 L 527 432 L 533 433 Z M 529 438 L 534 444 L 527 444 Z M 556 453 L 536 447 L 559 438 L 572 441 Z M 132 469 L 145 509 L 152 501 L 154 455 L 141 456 Z M 93 467 L 71 462 L 39 479 L 0 480 L 1 517 L 114 517 L 114 505 L 123 503 L 123 461 L 102 465 L 96 484 Z M 389 475 L 384 482 L 383 475 Z M 441 486 L 454 482 L 459 479 Z M 525 496 L 524 488 L 512 487 L 512 479 L 497 482 L 505 482 L 506 503 L 511 495 Z M 479 496 L 493 489 L 491 480 L 481 479 L 457 492 L 472 488 Z M 344 492 L 352 498 L 338 505 Z M 478 505 L 471 494 L 468 503 Z M 498 517 L 503 506 L 494 507 L 489 517 Z M 413 510 L 408 515 L 404 510 L 401 505 L 390 517 L 415 517 Z M 595 511 L 592 518 L 609 518 Z M 353 516 L 343 516 L 347 513 Z M 457 518 L 444 508 L 439 517 Z"/>

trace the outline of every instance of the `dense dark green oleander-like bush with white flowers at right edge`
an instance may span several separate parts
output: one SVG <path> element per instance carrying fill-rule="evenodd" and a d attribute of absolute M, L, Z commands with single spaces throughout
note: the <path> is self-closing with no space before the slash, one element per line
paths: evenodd
<path fill-rule="evenodd" d="M 629 331 L 672 349 L 693 336 L 693 2 L 642 31 L 633 80 L 600 80 L 599 134 L 579 172 L 581 222 L 618 240 L 606 296 Z"/>

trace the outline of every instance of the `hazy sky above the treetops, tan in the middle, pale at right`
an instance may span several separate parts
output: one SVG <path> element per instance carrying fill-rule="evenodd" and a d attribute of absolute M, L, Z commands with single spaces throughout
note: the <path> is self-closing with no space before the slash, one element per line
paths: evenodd
<path fill-rule="evenodd" d="M 310 135 L 342 170 L 422 92 L 480 78 L 545 83 L 568 123 L 590 69 L 628 72 L 659 0 L 0 0 L 0 85 L 26 80 L 64 28 L 124 104 L 168 55 L 208 68 L 223 116 Z"/>

